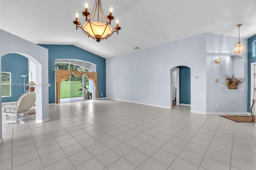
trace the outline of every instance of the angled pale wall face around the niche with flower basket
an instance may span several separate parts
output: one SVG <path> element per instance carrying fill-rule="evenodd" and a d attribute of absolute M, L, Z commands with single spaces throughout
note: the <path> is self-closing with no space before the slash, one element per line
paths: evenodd
<path fill-rule="evenodd" d="M 216 34 L 206 34 L 206 57 L 207 57 L 207 113 L 222 114 L 244 114 L 247 113 L 247 49 L 240 56 L 234 56 L 234 47 L 238 38 Z M 247 40 L 241 39 L 245 47 L 248 47 Z M 215 63 L 220 59 L 220 63 Z M 236 77 L 245 76 L 246 81 L 243 90 L 226 90 L 220 88 L 226 82 L 225 74 Z M 215 82 L 215 79 L 220 79 Z M 219 105 L 216 108 L 216 104 Z"/>

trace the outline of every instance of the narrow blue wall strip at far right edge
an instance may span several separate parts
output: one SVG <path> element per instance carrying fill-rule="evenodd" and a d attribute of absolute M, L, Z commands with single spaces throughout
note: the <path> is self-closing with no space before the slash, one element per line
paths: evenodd
<path fill-rule="evenodd" d="M 253 45 L 253 43 L 255 43 L 256 40 L 256 35 L 248 38 L 247 40 L 247 44 L 248 44 L 248 100 L 247 100 L 247 112 L 251 112 L 250 111 L 250 103 L 251 103 L 251 63 L 256 62 L 255 61 L 255 44 Z M 253 49 L 254 47 L 254 49 Z M 253 52 L 254 51 L 254 52 Z"/>

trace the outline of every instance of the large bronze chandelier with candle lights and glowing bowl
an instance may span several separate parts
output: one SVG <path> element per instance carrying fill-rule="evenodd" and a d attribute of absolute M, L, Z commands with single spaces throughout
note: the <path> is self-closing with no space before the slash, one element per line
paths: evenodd
<path fill-rule="evenodd" d="M 82 15 L 85 16 L 86 23 L 80 26 L 81 23 L 78 21 L 78 12 L 76 12 L 76 21 L 73 21 L 76 25 L 76 30 L 78 27 L 81 28 L 84 34 L 93 38 L 97 42 L 111 37 L 114 32 L 118 34 L 118 30 L 121 30 L 118 26 L 118 19 L 116 19 L 116 26 L 114 27 L 115 31 L 110 26 L 111 21 L 114 20 L 114 16 L 112 16 L 112 9 L 113 8 L 111 6 L 109 15 L 105 17 L 101 6 L 101 0 L 95 0 L 91 14 L 88 12 L 88 3 L 86 2 L 85 11 L 82 12 Z M 100 18 L 101 22 L 99 21 Z"/>

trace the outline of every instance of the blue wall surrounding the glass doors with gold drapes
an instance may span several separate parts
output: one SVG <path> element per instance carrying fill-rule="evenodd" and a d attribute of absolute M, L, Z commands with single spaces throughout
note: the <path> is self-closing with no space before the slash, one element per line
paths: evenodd
<path fill-rule="evenodd" d="M 98 94 L 99 98 L 106 97 L 106 59 L 85 51 L 74 45 L 45 45 L 39 44 L 48 49 L 49 56 L 49 103 L 55 103 L 55 59 L 80 59 L 96 64 L 98 72 Z M 42 82 L 44 83 L 44 82 Z M 101 96 L 102 94 L 102 96 Z"/>

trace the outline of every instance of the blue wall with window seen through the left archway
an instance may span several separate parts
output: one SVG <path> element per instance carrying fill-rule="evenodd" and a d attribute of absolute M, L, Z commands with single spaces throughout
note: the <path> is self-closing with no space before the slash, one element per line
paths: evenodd
<path fill-rule="evenodd" d="M 11 83 L 24 83 L 20 75 L 28 75 L 28 58 L 23 55 L 11 53 L 1 57 L 1 71 L 11 72 Z M 28 77 L 25 77 L 25 83 L 28 83 Z M 11 86 L 11 97 L 2 97 L 2 102 L 17 101 L 24 93 L 24 86 Z"/>

